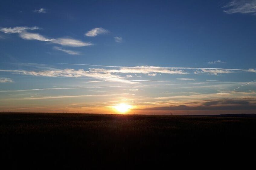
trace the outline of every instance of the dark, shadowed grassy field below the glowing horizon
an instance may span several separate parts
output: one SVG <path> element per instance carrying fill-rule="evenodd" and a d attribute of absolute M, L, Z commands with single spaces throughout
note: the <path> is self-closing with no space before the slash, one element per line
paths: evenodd
<path fill-rule="evenodd" d="M 255 134 L 253 117 L 0 113 L 1 166 L 247 169 Z"/>

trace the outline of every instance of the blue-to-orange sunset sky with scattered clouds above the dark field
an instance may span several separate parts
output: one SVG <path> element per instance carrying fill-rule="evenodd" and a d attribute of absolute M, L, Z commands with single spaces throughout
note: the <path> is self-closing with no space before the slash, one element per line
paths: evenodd
<path fill-rule="evenodd" d="M 256 113 L 255 29 L 256 0 L 4 1 L 0 112 Z"/>

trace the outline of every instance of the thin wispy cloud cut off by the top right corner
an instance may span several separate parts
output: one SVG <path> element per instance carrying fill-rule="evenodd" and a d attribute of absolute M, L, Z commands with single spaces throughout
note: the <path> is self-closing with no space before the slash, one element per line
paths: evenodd
<path fill-rule="evenodd" d="M 256 0 L 234 0 L 222 8 L 228 8 L 223 10 L 227 14 L 256 14 Z"/>

